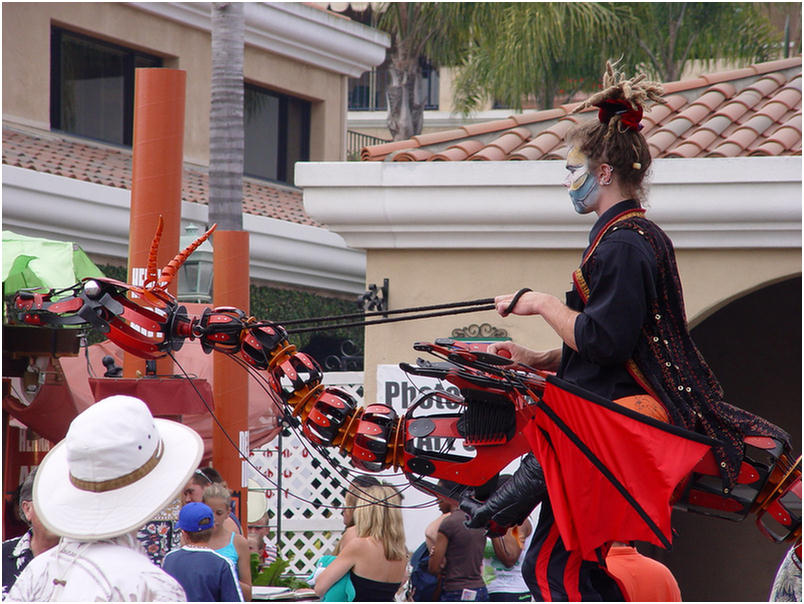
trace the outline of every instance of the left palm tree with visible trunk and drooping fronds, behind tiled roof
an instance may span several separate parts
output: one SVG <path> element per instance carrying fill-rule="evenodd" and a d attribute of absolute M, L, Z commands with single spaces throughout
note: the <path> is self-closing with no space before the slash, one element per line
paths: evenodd
<path fill-rule="evenodd" d="M 488 96 L 517 106 L 523 95 L 551 95 L 557 82 L 576 74 L 597 78 L 600 59 L 593 51 L 627 18 L 623 9 L 597 3 L 390 2 L 379 8 L 377 26 L 391 34 L 387 125 L 394 140 L 421 132 L 421 56 L 461 67 L 456 99 L 464 112 Z"/>

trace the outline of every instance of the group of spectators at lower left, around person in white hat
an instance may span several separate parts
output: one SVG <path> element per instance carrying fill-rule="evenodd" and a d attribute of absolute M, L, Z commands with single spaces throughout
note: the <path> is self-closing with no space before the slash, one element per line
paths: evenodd
<path fill-rule="evenodd" d="M 20 485 L 30 529 L 3 542 L 4 600 L 249 601 L 251 551 L 220 474 L 197 467 L 202 451 L 134 397 L 78 415 Z M 155 551 L 143 527 L 177 497 L 178 519 L 155 531 L 174 536 Z"/>

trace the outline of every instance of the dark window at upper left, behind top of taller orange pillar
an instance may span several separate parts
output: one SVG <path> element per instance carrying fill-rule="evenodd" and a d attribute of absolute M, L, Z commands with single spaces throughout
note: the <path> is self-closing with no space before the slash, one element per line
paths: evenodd
<path fill-rule="evenodd" d="M 162 67 L 162 59 L 54 27 L 50 127 L 131 145 L 138 67 Z"/>

